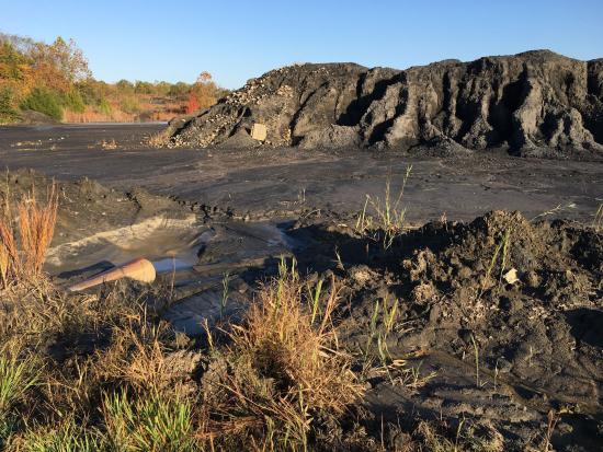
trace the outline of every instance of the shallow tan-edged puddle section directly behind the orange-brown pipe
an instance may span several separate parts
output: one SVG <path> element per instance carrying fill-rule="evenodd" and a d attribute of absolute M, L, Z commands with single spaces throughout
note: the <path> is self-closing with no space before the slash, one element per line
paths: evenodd
<path fill-rule="evenodd" d="M 153 263 L 158 274 L 193 266 L 204 273 L 216 265 L 221 267 L 220 264 L 225 268 L 244 266 L 254 258 L 286 253 L 293 246 L 274 222 L 234 221 L 207 227 L 194 216 L 183 220 L 156 217 L 53 247 L 48 251 L 46 270 L 59 277 L 92 275 L 145 257 Z"/>

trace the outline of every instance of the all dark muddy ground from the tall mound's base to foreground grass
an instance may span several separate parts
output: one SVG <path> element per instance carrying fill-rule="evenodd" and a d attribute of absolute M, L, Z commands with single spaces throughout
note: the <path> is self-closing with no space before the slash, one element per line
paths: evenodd
<path fill-rule="evenodd" d="M 401 449 L 425 419 L 453 440 L 474 430 L 543 450 L 551 414 L 555 450 L 603 450 L 601 162 L 149 149 L 159 127 L 0 129 L 3 189 L 43 196 L 49 178 L 18 167 L 61 181 L 57 283 L 146 256 L 159 282 L 174 280 L 163 315 L 194 336 L 216 317 L 226 273 L 236 318 L 294 256 L 310 279 L 334 276 L 341 341 L 373 357 L 365 428 L 377 443 Z M 357 213 L 388 177 L 397 193 L 409 164 L 412 228 L 384 246 Z"/>

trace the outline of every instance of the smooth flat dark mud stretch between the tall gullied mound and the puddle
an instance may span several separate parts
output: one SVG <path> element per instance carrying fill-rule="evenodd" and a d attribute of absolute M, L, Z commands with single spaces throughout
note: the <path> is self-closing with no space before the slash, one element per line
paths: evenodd
<path fill-rule="evenodd" d="M 470 220 L 489 210 L 520 210 L 527 218 L 554 212 L 588 221 L 596 211 L 603 164 L 596 159 L 545 160 L 488 151 L 433 155 L 372 151 L 283 149 L 150 149 L 160 125 L 56 126 L 0 129 L 0 166 L 30 167 L 76 181 L 88 176 L 109 188 L 133 187 L 175 197 L 207 211 L 269 219 L 314 210 L 356 212 L 365 196 L 399 189 L 407 166 L 409 220 Z M 116 149 L 102 142 L 115 139 Z"/>

